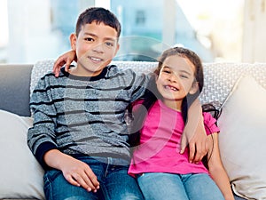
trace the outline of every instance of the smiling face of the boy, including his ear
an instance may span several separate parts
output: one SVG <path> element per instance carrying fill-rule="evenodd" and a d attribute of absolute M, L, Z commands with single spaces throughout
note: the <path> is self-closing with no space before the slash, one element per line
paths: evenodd
<path fill-rule="evenodd" d="M 75 74 L 79 76 L 98 76 L 119 50 L 116 30 L 104 23 L 85 24 L 78 36 L 70 36 L 70 42 L 77 56 Z"/>

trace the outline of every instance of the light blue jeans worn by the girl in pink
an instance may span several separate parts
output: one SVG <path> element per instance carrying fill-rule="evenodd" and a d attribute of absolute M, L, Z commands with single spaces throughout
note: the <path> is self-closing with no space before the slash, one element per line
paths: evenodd
<path fill-rule="evenodd" d="M 224 200 L 220 189 L 206 174 L 143 173 L 137 182 L 146 200 Z"/>

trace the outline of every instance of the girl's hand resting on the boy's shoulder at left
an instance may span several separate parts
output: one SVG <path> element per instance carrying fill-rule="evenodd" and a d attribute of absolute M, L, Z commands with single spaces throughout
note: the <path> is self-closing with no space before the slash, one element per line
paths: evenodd
<path fill-rule="evenodd" d="M 53 65 L 53 73 L 55 76 L 59 76 L 60 68 L 62 68 L 64 65 L 65 70 L 68 71 L 69 66 L 73 61 L 76 61 L 76 54 L 74 50 L 65 52 L 63 55 L 59 56 Z"/>

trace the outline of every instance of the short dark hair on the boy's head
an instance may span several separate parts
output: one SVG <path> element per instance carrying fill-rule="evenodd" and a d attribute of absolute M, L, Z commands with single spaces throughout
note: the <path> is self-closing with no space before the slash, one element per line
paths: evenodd
<path fill-rule="evenodd" d="M 82 26 L 90 24 L 93 21 L 97 24 L 104 23 L 105 25 L 114 28 L 117 31 L 117 38 L 119 38 L 121 34 L 121 24 L 119 20 L 113 12 L 101 7 L 90 7 L 80 14 L 75 25 L 76 36 L 79 35 Z"/>

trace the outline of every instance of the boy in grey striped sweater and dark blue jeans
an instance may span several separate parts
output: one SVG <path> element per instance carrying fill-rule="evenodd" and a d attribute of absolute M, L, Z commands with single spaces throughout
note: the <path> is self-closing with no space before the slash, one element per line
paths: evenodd
<path fill-rule="evenodd" d="M 144 94 L 148 77 L 108 66 L 120 33 L 112 12 L 82 12 L 70 36 L 76 67 L 62 68 L 59 78 L 43 76 L 32 94 L 35 121 L 27 142 L 46 170 L 47 199 L 143 199 L 128 175 L 124 114 Z"/>

